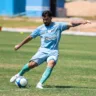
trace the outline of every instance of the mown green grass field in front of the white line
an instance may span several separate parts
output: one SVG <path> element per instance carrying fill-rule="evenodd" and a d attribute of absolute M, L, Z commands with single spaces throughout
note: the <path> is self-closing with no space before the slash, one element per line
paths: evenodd
<path fill-rule="evenodd" d="M 46 63 L 24 76 L 27 88 L 9 82 L 35 54 L 40 39 L 34 39 L 20 50 L 14 46 L 30 33 L 0 32 L 0 96 L 95 96 L 96 95 L 96 37 L 62 35 L 60 56 L 44 90 L 35 86 L 46 68 Z"/>

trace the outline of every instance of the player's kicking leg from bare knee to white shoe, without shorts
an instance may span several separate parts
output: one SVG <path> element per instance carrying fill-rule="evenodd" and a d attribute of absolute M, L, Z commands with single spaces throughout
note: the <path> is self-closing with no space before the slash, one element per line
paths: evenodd
<path fill-rule="evenodd" d="M 10 82 L 15 82 L 15 80 L 19 77 L 19 76 L 23 76 L 24 73 L 28 72 L 30 69 L 34 68 L 38 66 L 38 64 L 34 61 L 30 61 L 29 63 L 25 64 L 23 66 L 23 68 L 20 70 L 20 72 L 14 76 L 11 77 Z"/>

